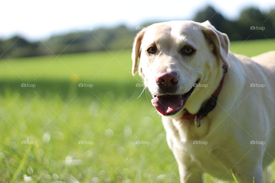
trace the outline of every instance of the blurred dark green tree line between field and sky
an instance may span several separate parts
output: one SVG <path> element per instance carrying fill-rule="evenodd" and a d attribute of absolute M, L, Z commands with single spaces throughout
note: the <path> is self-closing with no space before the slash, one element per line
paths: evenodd
<path fill-rule="evenodd" d="M 213 7 L 207 6 L 198 11 L 193 20 L 197 22 L 209 20 L 217 30 L 226 33 L 231 41 L 266 39 L 275 38 L 274 11 L 275 9 L 262 12 L 256 7 L 250 7 L 243 9 L 236 20 L 229 20 Z M 152 23 L 150 22 L 150 24 Z M 0 55 L 2 55 L 1 58 L 7 58 L 51 55 L 52 52 L 60 54 L 129 49 L 132 47 L 136 33 L 148 25 L 144 24 L 132 29 L 125 25 L 119 25 L 114 28 L 101 27 L 94 30 L 81 30 L 66 35 L 52 36 L 43 42 L 29 42 L 23 37 L 14 36 L 6 40 L 0 39 Z"/>

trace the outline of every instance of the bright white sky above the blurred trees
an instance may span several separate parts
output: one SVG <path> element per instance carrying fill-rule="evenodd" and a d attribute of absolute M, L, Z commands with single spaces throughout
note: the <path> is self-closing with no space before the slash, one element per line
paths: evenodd
<path fill-rule="evenodd" d="M 125 23 L 138 26 L 144 21 L 191 19 L 198 9 L 213 5 L 228 18 L 236 18 L 240 10 L 256 6 L 263 11 L 275 8 L 274 0 L 3 0 L 1 1 L 0 38 L 15 34 L 29 40 L 100 25 Z"/>

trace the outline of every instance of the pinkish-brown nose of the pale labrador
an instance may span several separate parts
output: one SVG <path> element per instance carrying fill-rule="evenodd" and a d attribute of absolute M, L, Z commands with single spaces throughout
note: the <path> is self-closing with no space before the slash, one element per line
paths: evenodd
<path fill-rule="evenodd" d="M 178 84 L 178 74 L 176 72 L 158 73 L 156 83 L 160 87 L 172 88 Z"/>

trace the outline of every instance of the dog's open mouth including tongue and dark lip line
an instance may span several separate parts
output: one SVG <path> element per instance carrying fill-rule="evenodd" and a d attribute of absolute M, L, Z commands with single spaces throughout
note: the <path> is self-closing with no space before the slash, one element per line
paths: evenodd
<path fill-rule="evenodd" d="M 164 115 L 170 116 L 174 115 L 183 108 L 184 104 L 186 103 L 187 99 L 190 97 L 192 92 L 194 91 L 196 84 L 199 83 L 199 80 L 193 84 L 193 87 L 186 92 L 185 94 L 164 94 L 164 95 L 157 95 L 155 98 L 151 100 L 152 105 L 157 109 L 157 111 Z"/>

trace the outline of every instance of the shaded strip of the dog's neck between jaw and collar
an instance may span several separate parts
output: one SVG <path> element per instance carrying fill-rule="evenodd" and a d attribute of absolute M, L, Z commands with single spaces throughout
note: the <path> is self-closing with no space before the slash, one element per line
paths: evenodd
<path fill-rule="evenodd" d="M 206 102 L 217 89 L 222 77 L 223 69 L 222 67 L 218 67 L 218 69 L 210 73 L 207 78 L 203 78 L 199 83 L 200 85 L 186 101 L 184 108 L 190 114 L 197 114 L 204 102 Z"/>

